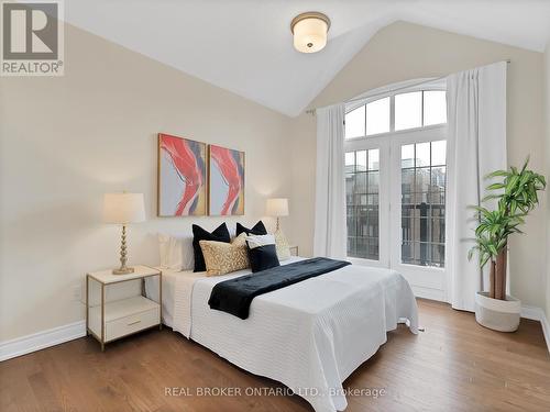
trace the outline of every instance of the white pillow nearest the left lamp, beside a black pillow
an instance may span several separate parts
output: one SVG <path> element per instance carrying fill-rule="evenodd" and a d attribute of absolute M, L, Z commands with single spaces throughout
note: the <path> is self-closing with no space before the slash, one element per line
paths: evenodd
<path fill-rule="evenodd" d="M 175 271 L 194 268 L 193 236 L 177 236 L 158 233 L 161 268 Z"/>

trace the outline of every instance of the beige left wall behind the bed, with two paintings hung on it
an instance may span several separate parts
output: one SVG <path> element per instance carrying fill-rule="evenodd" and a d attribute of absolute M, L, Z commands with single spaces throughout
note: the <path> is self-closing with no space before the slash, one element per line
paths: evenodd
<path fill-rule="evenodd" d="M 246 215 L 227 219 L 233 227 L 290 194 L 289 118 L 84 31 L 65 38 L 64 77 L 0 80 L 0 342 L 84 319 L 74 287 L 118 263 L 103 192 L 145 193 L 134 264 L 158 264 L 157 231 L 223 220 L 155 218 L 157 132 L 246 152 Z"/>

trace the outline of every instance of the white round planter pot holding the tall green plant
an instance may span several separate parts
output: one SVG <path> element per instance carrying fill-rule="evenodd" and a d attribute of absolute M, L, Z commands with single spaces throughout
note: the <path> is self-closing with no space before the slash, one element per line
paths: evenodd
<path fill-rule="evenodd" d="M 475 320 L 482 326 L 499 332 L 515 332 L 519 326 L 521 302 L 508 294 L 506 300 L 492 299 L 487 292 L 475 294 Z"/>

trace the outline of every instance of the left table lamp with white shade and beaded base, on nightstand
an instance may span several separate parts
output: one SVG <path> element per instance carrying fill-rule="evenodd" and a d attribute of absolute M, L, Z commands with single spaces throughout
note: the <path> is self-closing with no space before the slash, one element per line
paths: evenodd
<path fill-rule="evenodd" d="M 134 271 L 128 267 L 127 225 L 145 221 L 143 193 L 106 193 L 103 196 L 103 222 L 122 225 L 120 245 L 120 268 L 112 269 L 113 275 L 127 275 Z"/>

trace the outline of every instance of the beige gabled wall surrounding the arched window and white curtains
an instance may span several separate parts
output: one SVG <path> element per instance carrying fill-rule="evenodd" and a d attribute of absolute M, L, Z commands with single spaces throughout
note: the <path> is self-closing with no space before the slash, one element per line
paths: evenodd
<path fill-rule="evenodd" d="M 508 162 L 520 165 L 527 155 L 530 166 L 542 171 L 542 54 L 452 34 L 405 22 L 380 31 L 314 100 L 311 108 L 345 101 L 364 91 L 393 82 L 440 77 L 459 70 L 512 59 L 508 70 Z M 301 174 L 293 187 L 302 223 L 300 246 L 311 253 L 315 201 L 315 120 L 301 114 L 294 124 L 294 172 Z M 307 167 L 301 167 L 306 165 Z M 299 200 L 297 202 L 297 200 Z M 512 292 L 525 304 L 542 308 L 546 281 L 544 209 L 528 219 L 527 234 L 510 241 Z"/>

